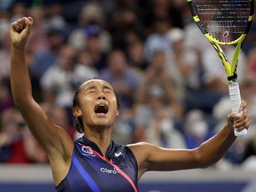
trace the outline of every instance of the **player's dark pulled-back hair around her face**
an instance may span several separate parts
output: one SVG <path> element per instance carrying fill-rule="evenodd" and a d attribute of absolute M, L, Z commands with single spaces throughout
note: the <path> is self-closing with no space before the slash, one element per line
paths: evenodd
<path fill-rule="evenodd" d="M 92 79 L 99 79 L 99 80 L 102 80 L 100 78 L 92 78 Z M 92 79 L 89 79 L 89 80 L 92 80 Z M 88 81 L 89 81 L 88 80 Z M 85 81 L 86 82 L 86 81 Z M 75 93 L 74 93 L 74 98 L 73 98 L 73 108 L 76 108 L 76 107 L 79 107 L 79 100 L 78 100 L 78 94 L 81 90 L 81 85 L 80 84 L 76 90 L 75 90 Z M 114 92 L 115 92 L 115 95 L 116 95 L 116 104 L 117 104 L 117 108 L 119 109 L 120 108 L 120 100 L 119 100 L 119 97 L 118 97 L 118 93 L 116 92 L 116 90 L 114 89 Z M 75 117 L 74 116 L 74 119 L 73 119 L 73 125 L 74 127 L 76 128 L 76 131 L 77 132 L 80 132 L 80 133 L 84 133 L 84 124 L 83 124 L 83 117 L 82 116 L 77 116 Z"/>

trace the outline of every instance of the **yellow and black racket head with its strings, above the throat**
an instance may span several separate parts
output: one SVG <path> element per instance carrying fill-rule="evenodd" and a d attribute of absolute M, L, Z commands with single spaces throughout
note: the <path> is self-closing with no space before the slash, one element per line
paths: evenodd
<path fill-rule="evenodd" d="M 237 44 L 252 26 L 254 0 L 188 0 L 197 26 L 215 44 Z"/>

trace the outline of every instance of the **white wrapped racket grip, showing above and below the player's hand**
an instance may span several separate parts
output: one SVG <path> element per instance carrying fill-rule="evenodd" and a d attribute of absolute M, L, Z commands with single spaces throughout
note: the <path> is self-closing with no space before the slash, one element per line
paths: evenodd
<path fill-rule="evenodd" d="M 239 84 L 237 82 L 228 84 L 228 92 L 229 92 L 229 97 L 231 101 L 231 108 L 232 108 L 232 113 L 239 114 L 240 111 L 240 105 L 241 105 L 241 95 L 240 95 L 240 89 L 239 89 Z M 234 130 L 234 133 L 236 136 L 244 136 L 247 134 L 247 130 L 244 129 L 240 132 Z"/>

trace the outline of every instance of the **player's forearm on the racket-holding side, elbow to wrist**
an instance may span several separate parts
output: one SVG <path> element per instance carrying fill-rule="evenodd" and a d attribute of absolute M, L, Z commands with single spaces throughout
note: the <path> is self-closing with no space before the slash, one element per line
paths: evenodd
<path fill-rule="evenodd" d="M 197 148 L 200 159 L 199 167 L 207 167 L 217 163 L 235 140 L 236 136 L 234 132 L 226 125 L 218 134 L 213 136 L 210 140 L 206 140 Z"/>

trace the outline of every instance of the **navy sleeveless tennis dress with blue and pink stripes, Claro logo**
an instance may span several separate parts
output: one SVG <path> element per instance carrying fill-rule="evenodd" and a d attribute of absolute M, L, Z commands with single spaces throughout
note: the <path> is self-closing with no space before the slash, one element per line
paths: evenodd
<path fill-rule="evenodd" d="M 76 140 L 68 174 L 57 191 L 137 192 L 138 165 L 131 149 L 112 140 L 107 156 L 110 162 L 91 140 Z"/>

